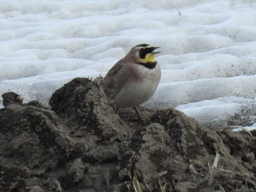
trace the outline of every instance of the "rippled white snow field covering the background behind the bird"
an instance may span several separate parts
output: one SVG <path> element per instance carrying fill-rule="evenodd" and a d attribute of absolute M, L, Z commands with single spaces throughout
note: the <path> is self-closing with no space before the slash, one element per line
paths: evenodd
<path fill-rule="evenodd" d="M 3 1 L 0 94 L 47 104 L 72 78 L 104 76 L 132 46 L 148 43 L 161 46 L 162 79 L 144 106 L 176 107 L 207 124 L 250 126 L 255 8 L 255 0 Z"/>

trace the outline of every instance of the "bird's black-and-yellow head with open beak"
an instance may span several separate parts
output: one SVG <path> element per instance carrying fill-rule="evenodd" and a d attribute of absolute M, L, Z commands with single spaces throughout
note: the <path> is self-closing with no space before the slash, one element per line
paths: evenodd
<path fill-rule="evenodd" d="M 154 50 L 158 48 L 160 47 L 153 47 L 149 44 L 138 44 L 130 50 L 130 54 L 138 63 L 154 63 L 156 62 L 155 54 L 160 53 L 154 52 Z"/>

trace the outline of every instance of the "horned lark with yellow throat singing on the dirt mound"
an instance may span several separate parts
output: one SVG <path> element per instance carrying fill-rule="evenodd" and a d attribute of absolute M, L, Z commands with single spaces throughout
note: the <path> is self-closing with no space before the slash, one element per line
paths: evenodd
<path fill-rule="evenodd" d="M 161 69 L 155 60 L 155 55 L 160 52 L 154 52 L 158 48 L 138 44 L 107 72 L 103 89 L 117 109 L 132 107 L 138 114 L 136 106 L 149 100 L 156 92 L 161 78 Z"/>

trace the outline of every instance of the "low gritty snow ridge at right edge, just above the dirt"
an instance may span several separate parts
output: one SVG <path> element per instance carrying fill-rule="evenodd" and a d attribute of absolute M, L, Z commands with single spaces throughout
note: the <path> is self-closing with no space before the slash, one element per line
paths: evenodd
<path fill-rule="evenodd" d="M 256 121 L 255 98 L 221 97 L 179 105 L 176 109 L 209 126 L 251 125 Z"/>

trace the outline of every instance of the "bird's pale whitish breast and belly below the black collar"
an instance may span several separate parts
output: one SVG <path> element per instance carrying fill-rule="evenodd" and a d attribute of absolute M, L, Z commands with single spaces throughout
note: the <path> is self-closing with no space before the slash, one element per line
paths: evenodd
<path fill-rule="evenodd" d="M 161 71 L 157 64 L 154 69 L 148 69 L 138 65 L 144 78 L 140 81 L 127 82 L 114 97 L 114 102 L 118 108 L 135 107 L 149 100 L 160 81 Z"/>

